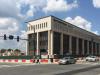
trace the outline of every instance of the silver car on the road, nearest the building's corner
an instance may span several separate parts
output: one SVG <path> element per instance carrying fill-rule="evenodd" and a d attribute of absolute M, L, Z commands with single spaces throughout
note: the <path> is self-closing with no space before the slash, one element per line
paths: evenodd
<path fill-rule="evenodd" d="M 74 64 L 75 62 L 76 62 L 76 59 L 73 57 L 64 57 L 58 61 L 59 65 L 61 65 L 61 64 L 63 64 L 63 65 L 64 64 Z"/>

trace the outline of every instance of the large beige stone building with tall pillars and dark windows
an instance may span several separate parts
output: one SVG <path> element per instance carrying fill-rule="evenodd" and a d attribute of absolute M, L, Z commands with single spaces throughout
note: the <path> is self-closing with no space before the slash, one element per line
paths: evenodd
<path fill-rule="evenodd" d="M 54 16 L 27 22 L 28 54 L 100 55 L 100 36 Z"/>

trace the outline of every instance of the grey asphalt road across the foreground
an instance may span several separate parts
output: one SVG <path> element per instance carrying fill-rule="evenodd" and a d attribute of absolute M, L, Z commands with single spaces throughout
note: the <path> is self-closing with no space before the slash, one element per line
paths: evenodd
<path fill-rule="evenodd" d="M 0 75 L 100 75 L 100 65 L 0 64 Z"/>

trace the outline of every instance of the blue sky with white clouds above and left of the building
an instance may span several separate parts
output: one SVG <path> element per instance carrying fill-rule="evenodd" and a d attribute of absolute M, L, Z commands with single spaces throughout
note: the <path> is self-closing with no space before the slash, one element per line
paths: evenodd
<path fill-rule="evenodd" d="M 0 0 L 0 36 L 27 38 L 25 22 L 53 15 L 100 35 L 100 0 Z M 26 41 L 3 40 L 0 49 L 26 49 Z"/>

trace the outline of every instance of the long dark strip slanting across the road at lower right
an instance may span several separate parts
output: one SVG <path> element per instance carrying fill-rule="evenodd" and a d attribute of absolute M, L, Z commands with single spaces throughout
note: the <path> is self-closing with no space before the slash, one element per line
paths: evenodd
<path fill-rule="evenodd" d="M 86 72 L 86 71 L 89 71 L 89 70 L 92 70 L 92 69 L 95 69 L 95 68 L 100 68 L 100 65 L 87 67 L 87 68 L 83 68 L 83 69 L 78 69 L 78 70 L 73 70 L 73 71 L 68 71 L 68 72 L 55 74 L 55 75 L 74 75 L 74 74 Z"/>

